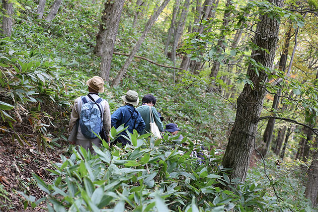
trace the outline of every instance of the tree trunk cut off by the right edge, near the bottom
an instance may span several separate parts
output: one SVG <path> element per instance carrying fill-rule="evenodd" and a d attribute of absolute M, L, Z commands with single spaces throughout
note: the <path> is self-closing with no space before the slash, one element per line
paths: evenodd
<path fill-rule="evenodd" d="M 318 151 L 317 151 L 317 138 L 315 141 L 316 150 L 313 154 L 313 161 L 308 168 L 308 183 L 306 185 L 305 196 L 312 201 L 312 207 L 318 206 Z"/>

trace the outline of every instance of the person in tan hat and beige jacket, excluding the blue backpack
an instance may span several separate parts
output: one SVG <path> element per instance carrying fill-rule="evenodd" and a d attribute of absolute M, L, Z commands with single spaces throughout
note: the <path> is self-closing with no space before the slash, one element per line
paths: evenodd
<path fill-rule="evenodd" d="M 79 121 L 81 119 L 81 110 L 84 108 L 84 105 L 87 104 L 98 105 L 97 108 L 100 112 L 102 112 L 99 114 L 101 115 L 102 125 L 104 127 L 106 135 L 109 135 L 109 131 L 111 128 L 110 110 L 108 102 L 100 98 L 98 95 L 98 93 L 104 92 L 104 80 L 99 76 L 93 76 L 86 81 L 86 85 L 88 86 L 89 93 L 85 96 L 78 97 L 75 100 L 74 107 L 72 109 L 69 131 L 72 131 L 71 135 L 75 136 L 73 138 L 69 137 L 69 141 L 71 144 L 81 145 L 86 150 L 90 149 L 90 151 L 93 152 L 92 143 L 100 146 L 100 140 L 98 138 L 87 138 L 87 135 L 84 132 L 81 132 L 81 127 L 79 126 Z M 74 131 L 77 131 L 77 133 L 73 133 Z M 109 142 L 109 136 L 107 142 Z"/>

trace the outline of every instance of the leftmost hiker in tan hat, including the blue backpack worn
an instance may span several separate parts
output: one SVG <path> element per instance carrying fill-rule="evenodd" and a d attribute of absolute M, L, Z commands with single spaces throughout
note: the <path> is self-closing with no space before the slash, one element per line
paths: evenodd
<path fill-rule="evenodd" d="M 98 96 L 98 93 L 104 92 L 104 80 L 99 76 L 94 76 L 86 81 L 86 85 L 89 93 L 78 97 L 72 109 L 69 131 L 75 132 L 75 136 L 72 139 L 69 137 L 69 141 L 71 144 L 81 145 L 86 150 L 90 149 L 91 152 L 94 152 L 92 143 L 100 146 L 100 140 L 92 131 L 99 134 L 103 127 L 108 136 L 107 142 L 109 142 L 110 110 L 108 102 Z"/>

